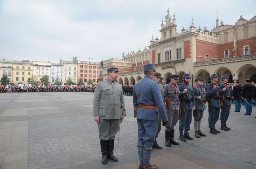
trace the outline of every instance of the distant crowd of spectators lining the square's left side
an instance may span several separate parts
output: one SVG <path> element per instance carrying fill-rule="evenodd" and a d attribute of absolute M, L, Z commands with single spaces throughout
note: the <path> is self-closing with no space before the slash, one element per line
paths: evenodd
<path fill-rule="evenodd" d="M 44 86 L 8 86 L 0 85 L 0 93 L 27 93 L 27 92 L 94 92 L 95 85 L 44 85 Z"/>

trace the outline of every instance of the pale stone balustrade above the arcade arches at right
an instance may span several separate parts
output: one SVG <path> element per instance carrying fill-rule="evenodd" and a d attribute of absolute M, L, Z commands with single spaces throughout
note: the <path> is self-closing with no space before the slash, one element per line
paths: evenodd
<path fill-rule="evenodd" d="M 243 56 L 234 56 L 234 57 L 231 57 L 231 58 L 208 60 L 208 61 L 204 61 L 204 62 L 195 62 L 194 67 L 204 66 L 204 65 L 213 65 L 213 64 L 224 64 L 224 63 L 230 63 L 230 62 L 240 62 L 240 61 L 245 61 L 245 60 L 256 60 L 256 54 L 243 55 Z"/>

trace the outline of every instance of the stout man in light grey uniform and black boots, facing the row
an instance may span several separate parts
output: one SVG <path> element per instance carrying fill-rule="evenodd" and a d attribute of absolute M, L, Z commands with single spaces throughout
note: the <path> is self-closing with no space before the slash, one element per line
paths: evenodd
<path fill-rule="evenodd" d="M 122 85 L 115 82 L 118 68 L 108 69 L 108 78 L 99 82 L 93 98 L 93 116 L 98 124 L 102 164 L 107 164 L 108 159 L 118 161 L 113 155 L 115 135 L 120 123 L 126 116 Z"/>

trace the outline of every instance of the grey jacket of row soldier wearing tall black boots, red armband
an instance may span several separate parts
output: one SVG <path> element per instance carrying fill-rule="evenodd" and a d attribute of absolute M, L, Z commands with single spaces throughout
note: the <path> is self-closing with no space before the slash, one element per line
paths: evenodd
<path fill-rule="evenodd" d="M 167 84 L 163 89 L 163 97 L 166 99 L 170 99 L 170 110 L 178 111 L 180 107 L 179 101 L 179 88 L 174 84 Z M 166 106 L 167 107 L 167 106 Z"/>

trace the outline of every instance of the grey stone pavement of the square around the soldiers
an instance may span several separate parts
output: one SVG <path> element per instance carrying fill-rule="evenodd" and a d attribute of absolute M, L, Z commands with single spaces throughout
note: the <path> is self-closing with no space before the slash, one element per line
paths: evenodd
<path fill-rule="evenodd" d="M 127 116 L 115 139 L 119 162 L 102 165 L 98 128 L 92 116 L 93 93 L 0 93 L 0 169 L 138 168 L 137 124 L 132 97 L 125 96 Z M 204 114 L 203 138 L 164 145 L 164 127 L 158 138 L 163 150 L 153 149 L 152 164 L 160 169 L 256 169 L 256 106 L 252 116 L 230 111 L 231 131 L 213 135 Z M 192 121 L 193 123 L 193 121 Z M 220 129 L 220 122 L 217 122 Z M 178 125 L 175 127 L 177 139 Z M 191 124 L 190 135 L 194 137 Z"/>

